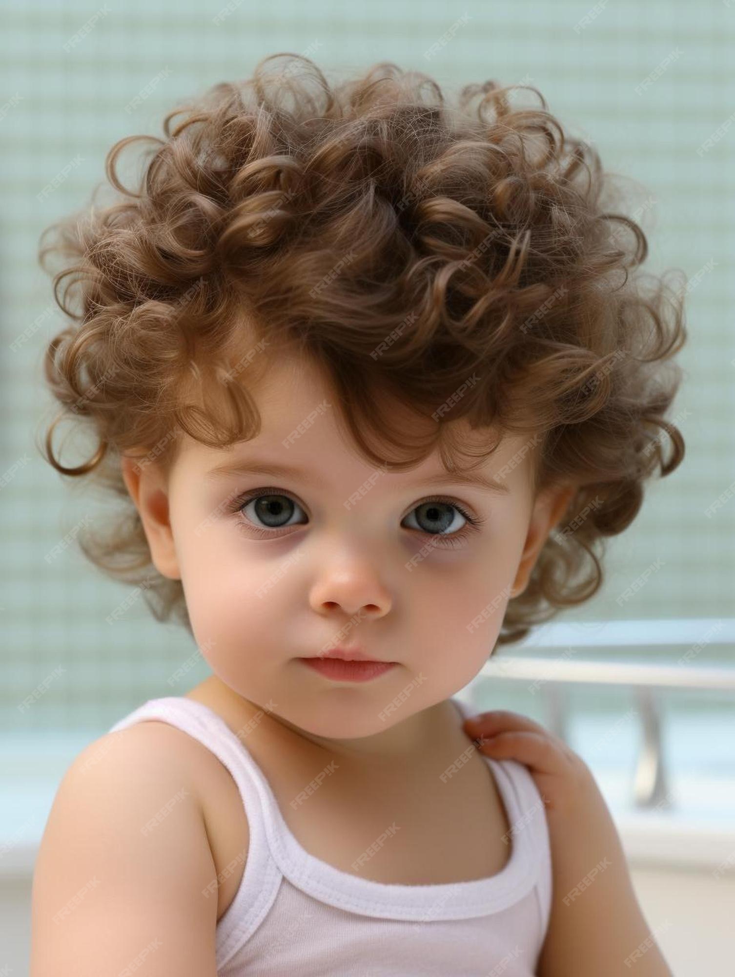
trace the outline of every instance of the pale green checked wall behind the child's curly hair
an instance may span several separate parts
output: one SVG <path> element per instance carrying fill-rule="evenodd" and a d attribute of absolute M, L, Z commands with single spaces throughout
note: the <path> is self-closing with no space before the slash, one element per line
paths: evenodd
<path fill-rule="evenodd" d="M 632 211 L 654 198 L 640 218 L 651 251 L 648 268 L 677 268 L 699 278 L 688 299 L 690 340 L 680 359 L 686 374 L 672 414 L 687 455 L 673 476 L 651 485 L 633 527 L 610 542 L 602 592 L 567 618 L 733 616 L 735 3 L 616 0 L 598 4 L 581 30 L 575 25 L 594 7 L 568 0 L 233 2 L 217 25 L 213 20 L 223 9 L 203 0 L 105 6 L 34 0 L 3 9 L 3 725 L 26 732 L 56 725 L 102 730 L 145 699 L 180 695 L 208 674 L 199 662 L 172 687 L 167 680 L 194 651 L 184 632 L 157 623 L 141 600 L 110 626 L 105 616 L 130 588 L 108 581 L 73 546 L 51 563 L 44 559 L 98 507 L 64 484 L 35 447 L 52 404 L 41 381 L 41 355 L 62 324 L 36 249 L 43 229 L 82 206 L 102 183 L 104 155 L 116 140 L 160 135 L 166 110 L 218 81 L 247 77 L 262 57 L 279 51 L 313 51 L 332 76 L 394 61 L 428 71 L 448 90 L 487 78 L 525 80 L 540 88 L 573 133 L 592 140 L 609 169 L 635 182 Z M 465 13 L 467 24 L 428 60 L 430 46 Z M 94 28 L 64 50 L 95 14 Z M 641 90 L 667 59 L 668 67 Z M 162 71 L 165 77 L 143 105 L 126 112 Z M 715 148 L 699 155 L 697 148 L 722 124 L 726 131 Z M 71 161 L 66 179 L 39 200 Z M 711 270 L 699 275 L 703 268 Z M 26 329 L 31 338 L 14 351 L 11 343 Z M 721 493 L 725 504 L 708 519 L 705 510 Z M 662 569 L 620 608 L 616 596 L 657 560 Z M 21 713 L 18 703 L 39 686 L 45 691 Z"/>

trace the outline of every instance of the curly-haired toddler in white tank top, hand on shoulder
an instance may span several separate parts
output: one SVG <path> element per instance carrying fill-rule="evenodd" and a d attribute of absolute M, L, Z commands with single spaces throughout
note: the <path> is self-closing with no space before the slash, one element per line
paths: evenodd
<path fill-rule="evenodd" d="M 543 98 L 278 57 L 47 249 L 99 442 L 48 459 L 120 506 L 84 552 L 212 675 L 66 772 L 32 977 L 670 974 L 589 769 L 455 696 L 681 461 L 680 306 Z"/>

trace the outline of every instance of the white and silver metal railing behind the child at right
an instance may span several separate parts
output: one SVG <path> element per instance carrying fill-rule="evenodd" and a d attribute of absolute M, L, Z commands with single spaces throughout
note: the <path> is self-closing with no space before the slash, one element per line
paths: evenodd
<path fill-rule="evenodd" d="M 587 628 L 587 629 L 586 629 Z M 641 633 L 642 632 L 642 633 Z M 708 637 L 709 636 L 709 637 Z M 596 625 L 574 625 L 553 622 L 545 625 L 530 640 L 501 646 L 475 679 L 526 681 L 543 693 L 546 725 L 554 735 L 568 743 L 568 709 L 564 689 L 572 685 L 608 688 L 630 688 L 640 717 L 641 739 L 633 777 L 633 805 L 638 809 L 670 806 L 669 771 L 662 749 L 661 719 L 656 691 L 683 689 L 730 694 L 735 693 L 735 667 L 692 666 L 692 658 L 709 644 L 735 648 L 735 618 L 680 618 L 667 620 L 601 621 Z M 652 645 L 675 651 L 684 649 L 674 664 L 645 660 Z M 635 662 L 568 660 L 565 658 L 512 658 L 512 649 L 538 649 L 556 652 L 590 652 L 605 649 L 614 652 L 626 647 L 640 651 L 643 660 Z M 735 655 L 734 655 L 735 658 Z M 470 689 L 470 700 L 473 690 Z M 474 696 L 476 700 L 476 695 Z M 477 701 L 472 707 L 481 711 Z"/>

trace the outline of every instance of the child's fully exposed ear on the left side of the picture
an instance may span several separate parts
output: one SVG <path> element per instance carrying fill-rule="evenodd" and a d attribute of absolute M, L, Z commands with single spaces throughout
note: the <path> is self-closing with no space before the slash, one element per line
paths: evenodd
<path fill-rule="evenodd" d="M 123 480 L 143 522 L 153 566 L 158 573 L 181 580 L 169 520 L 168 484 L 163 472 L 147 458 L 143 459 L 143 465 L 139 465 L 128 455 L 122 456 L 121 466 Z"/>

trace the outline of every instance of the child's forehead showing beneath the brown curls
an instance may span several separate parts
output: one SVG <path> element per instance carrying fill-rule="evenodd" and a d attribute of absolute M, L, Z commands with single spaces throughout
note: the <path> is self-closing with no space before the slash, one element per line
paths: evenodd
<path fill-rule="evenodd" d="M 248 379 L 244 376 L 244 382 Z M 311 358 L 293 350 L 279 352 L 269 357 L 266 365 L 259 363 L 248 389 L 261 417 L 260 432 L 251 440 L 226 448 L 205 446 L 184 436 L 180 459 L 185 467 L 209 472 L 215 467 L 256 459 L 320 474 L 325 483 L 331 482 L 339 472 L 353 485 L 359 485 L 376 471 L 376 465 L 360 453 L 349 437 L 327 371 Z M 433 420 L 406 404 L 391 402 L 388 416 L 389 423 L 407 444 L 416 446 L 417 453 L 419 446 L 425 445 L 436 430 Z M 508 483 L 509 488 L 530 481 L 534 451 L 527 437 L 505 434 L 499 442 L 497 429 L 471 430 L 466 418 L 449 423 L 463 450 L 471 451 L 471 455 L 454 462 L 456 467 L 476 466 L 478 472 L 492 478 L 500 474 L 499 481 Z M 496 450 L 478 463 L 477 455 L 496 444 Z M 387 452 L 390 458 L 394 449 L 388 447 Z M 444 471 L 436 446 L 413 468 L 392 473 L 388 464 L 384 474 L 399 481 L 412 481 Z"/>

